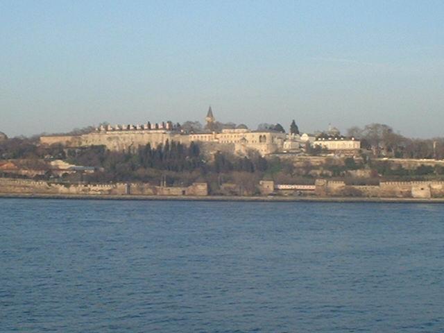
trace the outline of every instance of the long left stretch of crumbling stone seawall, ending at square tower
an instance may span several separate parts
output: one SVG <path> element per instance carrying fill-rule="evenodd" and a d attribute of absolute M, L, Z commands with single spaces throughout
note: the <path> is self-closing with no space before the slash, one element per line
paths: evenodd
<path fill-rule="evenodd" d="M 3 194 L 59 194 L 86 196 L 207 196 L 207 183 L 189 187 L 160 187 L 146 183 L 67 184 L 35 180 L 0 178 Z"/>

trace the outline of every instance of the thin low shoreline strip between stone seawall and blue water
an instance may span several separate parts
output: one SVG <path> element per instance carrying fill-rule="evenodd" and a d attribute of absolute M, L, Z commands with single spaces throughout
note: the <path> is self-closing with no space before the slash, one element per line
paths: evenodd
<path fill-rule="evenodd" d="M 137 196 L 87 194 L 7 194 L 0 198 L 70 199 L 70 200 L 146 200 L 146 201 L 228 201 L 228 202 L 316 202 L 316 203 L 444 203 L 444 198 L 358 198 L 318 196 Z"/>

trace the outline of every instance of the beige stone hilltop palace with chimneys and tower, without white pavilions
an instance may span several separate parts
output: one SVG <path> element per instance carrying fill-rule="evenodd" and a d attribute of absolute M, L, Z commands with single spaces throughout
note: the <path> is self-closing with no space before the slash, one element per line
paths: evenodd
<path fill-rule="evenodd" d="M 208 111 L 206 128 L 211 129 L 215 122 L 212 110 Z M 66 147 L 106 146 L 111 151 L 133 151 L 139 146 L 151 144 L 157 146 L 169 142 L 189 145 L 191 142 L 205 143 L 216 149 L 223 145 L 233 153 L 245 154 L 254 149 L 261 155 L 281 151 L 284 146 L 285 133 L 273 130 L 249 130 L 246 126 L 223 129 L 220 131 L 206 130 L 200 133 L 185 133 L 173 126 L 171 121 L 166 123 L 145 123 L 143 125 L 101 126 L 92 133 L 82 135 L 46 135 L 40 137 L 40 143 L 45 145 L 62 144 Z M 216 144 L 216 145 L 215 145 Z M 205 146 L 205 145 L 204 145 Z"/>

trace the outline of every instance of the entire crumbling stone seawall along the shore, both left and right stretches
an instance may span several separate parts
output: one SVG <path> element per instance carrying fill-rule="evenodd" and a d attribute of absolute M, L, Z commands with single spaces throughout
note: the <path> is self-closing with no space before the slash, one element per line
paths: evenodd
<path fill-rule="evenodd" d="M 262 181 L 263 195 L 279 194 L 273 181 Z M 300 191 L 295 191 L 295 193 Z M 311 193 L 311 194 L 310 194 Z M 35 180 L 0 178 L 0 194 L 52 194 L 77 196 L 207 196 L 205 182 L 188 187 L 161 187 L 141 182 L 113 184 L 67 184 Z M 286 192 L 286 195 L 291 195 Z M 379 185 L 345 185 L 342 181 L 316 180 L 314 191 L 307 195 L 357 198 L 444 198 L 444 182 L 381 182 Z"/>

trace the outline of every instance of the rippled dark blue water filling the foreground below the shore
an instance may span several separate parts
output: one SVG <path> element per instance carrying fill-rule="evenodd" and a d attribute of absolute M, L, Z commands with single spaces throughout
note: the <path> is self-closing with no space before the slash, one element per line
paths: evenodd
<path fill-rule="evenodd" d="M 0 199 L 1 332 L 443 332 L 444 205 Z"/>

